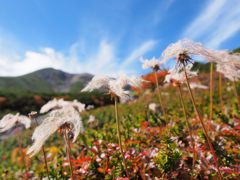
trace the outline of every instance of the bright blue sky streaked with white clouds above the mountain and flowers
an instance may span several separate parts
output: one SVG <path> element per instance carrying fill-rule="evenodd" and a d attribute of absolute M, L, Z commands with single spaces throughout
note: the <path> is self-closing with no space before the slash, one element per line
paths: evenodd
<path fill-rule="evenodd" d="M 240 47 L 239 0 L 0 0 L 0 75 L 141 74 L 182 38 Z"/>

